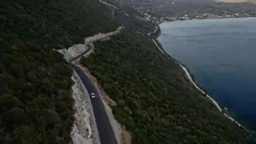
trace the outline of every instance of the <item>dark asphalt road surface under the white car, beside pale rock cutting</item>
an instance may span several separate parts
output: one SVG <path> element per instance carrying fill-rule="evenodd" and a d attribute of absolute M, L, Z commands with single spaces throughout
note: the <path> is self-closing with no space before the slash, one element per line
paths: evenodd
<path fill-rule="evenodd" d="M 87 52 L 88 51 L 90 50 L 87 50 Z M 103 101 L 101 101 L 101 95 L 99 94 L 89 77 L 85 75 L 82 69 L 80 69 L 80 67 L 77 67 L 75 64 L 72 63 L 69 63 L 69 66 L 75 69 L 90 95 L 101 144 L 117 144 L 115 134 L 113 132 L 113 129 L 109 122 L 109 118 L 104 108 Z M 91 98 L 91 93 L 94 93 L 96 98 Z"/>

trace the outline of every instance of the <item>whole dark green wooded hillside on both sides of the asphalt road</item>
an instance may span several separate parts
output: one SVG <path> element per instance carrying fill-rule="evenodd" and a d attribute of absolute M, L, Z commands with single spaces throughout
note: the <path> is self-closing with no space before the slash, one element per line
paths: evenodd
<path fill-rule="evenodd" d="M 0 4 L 0 144 L 68 144 L 73 125 L 72 70 L 54 49 L 85 37 L 125 31 L 96 43 L 83 64 L 112 99 L 133 144 L 255 144 L 201 96 L 149 37 L 152 24 L 123 5 L 98 0 L 4 0 Z M 138 33 L 138 30 L 141 33 Z"/>

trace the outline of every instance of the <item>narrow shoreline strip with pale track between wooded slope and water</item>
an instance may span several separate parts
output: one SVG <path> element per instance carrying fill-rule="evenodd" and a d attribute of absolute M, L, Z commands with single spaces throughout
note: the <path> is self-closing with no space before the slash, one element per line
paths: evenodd
<path fill-rule="evenodd" d="M 155 26 L 156 27 L 156 26 Z M 159 30 L 157 30 L 159 29 Z M 227 117 L 229 120 L 231 120 L 232 122 L 235 122 L 238 126 L 240 126 L 241 128 L 243 128 L 245 131 L 248 131 L 247 128 L 245 128 L 243 125 L 241 125 L 240 123 L 238 123 L 234 118 L 230 117 L 229 115 L 227 115 L 223 109 L 221 108 L 221 106 L 218 104 L 218 102 L 216 102 L 209 94 L 207 94 L 207 92 L 205 90 L 203 90 L 202 87 L 200 87 L 199 83 L 195 80 L 195 77 L 192 75 L 192 73 L 189 71 L 189 68 L 187 68 L 184 64 L 181 64 L 180 61 L 173 59 L 173 57 L 171 57 L 168 53 L 165 52 L 163 45 L 157 40 L 157 37 L 159 37 L 161 35 L 161 29 L 159 27 L 159 25 L 157 25 L 156 29 L 154 32 L 151 32 L 148 34 L 148 36 L 152 39 L 152 41 L 155 43 L 155 45 L 157 46 L 157 48 L 165 55 L 168 56 L 169 59 L 174 60 L 177 64 L 179 64 L 179 66 L 183 69 L 183 71 L 185 72 L 187 78 L 189 79 L 189 81 L 194 85 L 194 87 L 200 91 L 203 95 L 205 95 L 206 97 L 208 97 L 208 99 L 210 99 L 213 104 L 216 106 L 216 108 L 223 113 L 223 115 L 225 117 Z"/>

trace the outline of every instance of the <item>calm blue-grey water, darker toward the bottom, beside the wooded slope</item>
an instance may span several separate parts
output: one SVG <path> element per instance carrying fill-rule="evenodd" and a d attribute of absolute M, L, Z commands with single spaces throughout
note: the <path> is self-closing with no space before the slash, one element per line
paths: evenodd
<path fill-rule="evenodd" d="M 160 24 L 165 51 L 249 128 L 256 130 L 256 18 Z"/>

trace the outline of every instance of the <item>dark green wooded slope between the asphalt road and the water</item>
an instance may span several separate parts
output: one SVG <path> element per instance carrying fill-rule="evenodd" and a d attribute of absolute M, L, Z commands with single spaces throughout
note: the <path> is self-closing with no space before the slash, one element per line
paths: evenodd
<path fill-rule="evenodd" d="M 133 144 L 255 144 L 254 133 L 232 123 L 201 96 L 184 72 L 155 47 L 126 31 L 96 44 L 82 60 L 117 102 L 117 121 Z"/>

